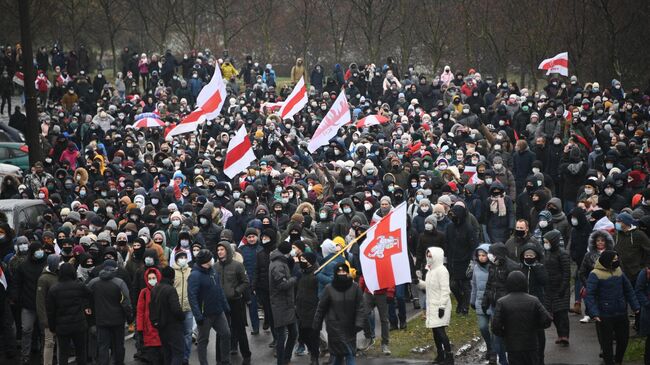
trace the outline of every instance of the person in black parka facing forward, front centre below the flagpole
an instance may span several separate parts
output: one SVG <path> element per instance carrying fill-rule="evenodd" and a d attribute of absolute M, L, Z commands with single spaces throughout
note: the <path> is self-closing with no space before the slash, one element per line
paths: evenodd
<path fill-rule="evenodd" d="M 319 296 L 312 326 L 320 331 L 325 322 L 328 351 L 337 363 L 343 363 L 345 358 L 349 361 L 356 355 L 357 332 L 368 316 L 363 305 L 363 293 L 349 271 L 345 263 L 335 265 L 331 284 Z"/>

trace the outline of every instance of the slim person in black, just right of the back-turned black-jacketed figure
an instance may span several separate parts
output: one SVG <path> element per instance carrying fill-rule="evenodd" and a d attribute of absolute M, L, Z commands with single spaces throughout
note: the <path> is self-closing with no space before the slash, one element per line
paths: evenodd
<path fill-rule="evenodd" d="M 560 232 L 552 230 L 544 234 L 544 267 L 548 281 L 544 291 L 544 306 L 553 315 L 557 330 L 557 344 L 569 344 L 569 300 L 571 298 L 571 260 L 560 246 Z"/>

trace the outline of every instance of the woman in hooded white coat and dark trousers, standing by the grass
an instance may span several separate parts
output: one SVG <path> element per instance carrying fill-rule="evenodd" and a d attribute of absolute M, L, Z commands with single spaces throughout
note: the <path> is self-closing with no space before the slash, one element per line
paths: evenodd
<path fill-rule="evenodd" d="M 451 319 L 451 291 L 449 272 L 443 265 L 444 252 L 440 247 L 429 247 L 424 281 L 420 289 L 426 291 L 426 327 L 433 331 L 438 356 L 434 364 L 453 364 L 454 357 L 445 328 Z"/>

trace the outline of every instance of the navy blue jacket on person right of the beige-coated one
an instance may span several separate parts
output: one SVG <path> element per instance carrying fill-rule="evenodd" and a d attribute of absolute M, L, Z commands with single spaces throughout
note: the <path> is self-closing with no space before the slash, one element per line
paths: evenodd
<path fill-rule="evenodd" d="M 188 299 L 196 321 L 208 315 L 230 312 L 226 295 L 219 284 L 219 274 L 213 268 L 194 266 L 188 278 Z"/>

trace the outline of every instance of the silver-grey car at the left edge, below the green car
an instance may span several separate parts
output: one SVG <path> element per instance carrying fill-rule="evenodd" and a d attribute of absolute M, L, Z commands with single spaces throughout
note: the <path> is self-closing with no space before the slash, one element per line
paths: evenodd
<path fill-rule="evenodd" d="M 6 219 L 17 235 L 29 227 L 36 227 L 46 210 L 47 205 L 39 199 L 0 200 L 0 219 Z"/>

